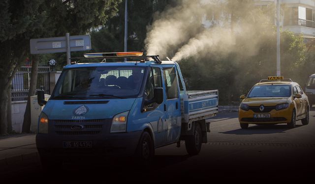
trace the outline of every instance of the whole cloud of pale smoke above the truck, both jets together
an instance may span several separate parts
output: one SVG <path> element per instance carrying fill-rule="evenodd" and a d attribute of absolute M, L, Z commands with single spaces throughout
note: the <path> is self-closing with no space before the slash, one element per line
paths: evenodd
<path fill-rule="evenodd" d="M 148 54 L 166 54 L 175 52 L 172 60 L 180 61 L 187 57 L 198 55 L 227 55 L 229 53 L 238 53 L 242 57 L 252 56 L 259 51 L 260 44 L 264 40 L 261 30 L 264 30 L 268 24 L 253 24 L 270 22 L 269 16 L 251 14 L 253 7 L 233 7 L 234 1 L 228 0 L 219 2 L 217 0 L 203 0 L 208 6 L 196 3 L 195 0 L 183 0 L 180 5 L 169 9 L 159 15 L 153 25 L 150 27 L 146 39 L 146 50 Z M 211 4 L 213 3 L 213 5 Z M 216 4 L 216 6 L 215 6 Z M 218 6 L 218 4 L 220 4 Z M 236 4 L 237 5 L 237 4 Z M 206 13 L 214 10 L 214 7 L 220 7 L 222 11 L 234 12 L 241 15 L 243 21 L 231 24 L 229 16 L 221 14 L 221 22 L 230 26 L 214 26 L 211 28 L 200 29 L 201 19 Z M 252 9 L 250 9 L 252 8 Z M 221 10 L 220 10 L 221 11 Z M 222 12 L 221 11 L 221 12 Z M 238 45 L 236 46 L 236 42 Z"/>

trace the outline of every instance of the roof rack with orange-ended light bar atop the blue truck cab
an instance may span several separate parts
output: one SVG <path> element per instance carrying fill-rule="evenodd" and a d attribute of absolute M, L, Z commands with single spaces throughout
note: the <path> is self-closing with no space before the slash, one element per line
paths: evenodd
<path fill-rule="evenodd" d="M 84 57 L 72 57 L 70 60 L 76 59 L 76 61 L 71 61 L 71 64 L 76 64 L 80 59 L 102 59 L 101 62 L 104 62 L 104 59 L 119 59 L 119 58 L 133 58 L 133 59 L 148 59 L 152 58 L 157 64 L 161 63 L 161 60 L 158 58 L 159 55 L 142 55 L 141 52 L 121 52 L 121 53 L 85 53 Z M 145 60 L 143 60 L 145 61 Z"/>

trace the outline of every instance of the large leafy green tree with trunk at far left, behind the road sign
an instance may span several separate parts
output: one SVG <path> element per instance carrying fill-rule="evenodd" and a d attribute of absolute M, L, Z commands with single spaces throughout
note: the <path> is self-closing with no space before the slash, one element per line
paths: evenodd
<path fill-rule="evenodd" d="M 65 32 L 72 35 L 85 34 L 91 28 L 104 25 L 114 16 L 120 2 L 121 0 L 66 0 L 64 3 L 62 0 L 1 0 L 0 134 L 5 134 L 8 130 L 8 116 L 11 116 L 7 113 L 11 100 L 8 98 L 9 86 L 17 69 L 30 54 L 30 39 L 63 36 Z M 37 63 L 38 60 L 33 59 L 32 66 L 36 68 Z M 30 95 L 34 95 L 34 87 L 30 89 Z M 30 131 L 29 120 L 24 122 L 23 131 Z"/>

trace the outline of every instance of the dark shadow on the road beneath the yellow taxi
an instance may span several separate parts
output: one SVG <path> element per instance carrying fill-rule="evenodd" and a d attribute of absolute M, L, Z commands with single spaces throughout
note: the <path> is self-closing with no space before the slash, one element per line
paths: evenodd
<path fill-rule="evenodd" d="M 302 125 L 296 125 L 296 128 L 302 127 Z M 251 134 L 272 134 L 272 133 L 285 133 L 290 130 L 286 125 L 254 125 L 248 129 L 237 129 L 232 131 L 223 131 L 219 133 L 223 134 L 237 134 L 237 135 L 251 135 Z"/>

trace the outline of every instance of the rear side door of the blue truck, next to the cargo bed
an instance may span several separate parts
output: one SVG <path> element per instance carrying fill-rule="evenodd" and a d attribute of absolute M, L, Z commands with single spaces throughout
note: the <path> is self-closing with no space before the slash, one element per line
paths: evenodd
<path fill-rule="evenodd" d="M 163 79 L 166 93 L 165 110 L 167 113 L 167 143 L 176 142 L 181 133 L 181 102 L 176 69 L 163 67 Z"/>

